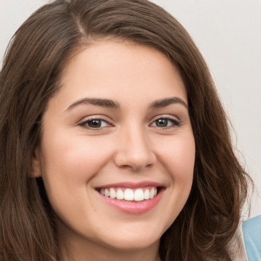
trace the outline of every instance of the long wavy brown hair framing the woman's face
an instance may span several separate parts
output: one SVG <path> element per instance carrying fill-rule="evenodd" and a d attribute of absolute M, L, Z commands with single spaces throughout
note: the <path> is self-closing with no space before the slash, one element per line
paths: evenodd
<path fill-rule="evenodd" d="M 247 194 L 210 72 L 191 37 L 146 0 L 57 0 L 15 33 L 0 74 L 0 259 L 60 260 L 54 216 L 41 178 L 31 178 L 48 99 L 66 61 L 102 37 L 152 46 L 175 64 L 189 100 L 196 159 L 189 199 L 163 234 L 165 261 L 231 260 Z"/>

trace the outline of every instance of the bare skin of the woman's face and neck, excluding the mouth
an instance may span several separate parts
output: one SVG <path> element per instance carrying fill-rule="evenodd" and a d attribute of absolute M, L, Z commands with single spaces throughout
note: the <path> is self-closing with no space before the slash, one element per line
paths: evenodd
<path fill-rule="evenodd" d="M 151 107 L 173 97 L 179 100 Z M 110 99 L 117 108 L 77 103 L 85 98 Z M 150 47 L 103 39 L 66 64 L 34 159 L 34 176 L 42 176 L 57 215 L 63 260 L 160 260 L 160 238 L 192 186 L 187 104 L 179 72 Z M 166 118 L 167 126 L 157 125 Z M 101 126 L 90 127 L 93 119 Z M 160 201 L 143 214 L 123 213 L 95 190 L 123 181 L 160 183 Z"/>

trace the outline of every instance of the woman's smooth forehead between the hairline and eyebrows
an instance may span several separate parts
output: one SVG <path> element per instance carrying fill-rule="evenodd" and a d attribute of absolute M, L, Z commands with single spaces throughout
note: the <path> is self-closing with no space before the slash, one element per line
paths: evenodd
<path fill-rule="evenodd" d="M 59 95 L 65 103 L 85 96 L 125 103 L 180 96 L 187 102 L 184 83 L 170 59 L 131 41 L 93 42 L 66 63 L 61 82 Z"/>

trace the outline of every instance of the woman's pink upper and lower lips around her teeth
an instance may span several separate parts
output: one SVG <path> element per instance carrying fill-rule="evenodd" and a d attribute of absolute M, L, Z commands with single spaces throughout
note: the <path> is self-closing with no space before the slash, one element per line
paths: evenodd
<path fill-rule="evenodd" d="M 163 187 L 162 184 L 155 183 L 155 182 L 139 182 L 139 183 L 132 183 L 132 182 L 120 182 L 120 183 L 114 183 L 114 184 L 108 184 L 105 186 L 101 186 L 100 188 L 143 188 L 147 186 L 155 186 L 155 187 Z M 127 200 L 119 200 L 119 199 L 112 199 L 106 196 L 101 195 L 98 191 L 98 195 L 101 197 L 102 200 L 104 200 L 106 203 L 111 205 L 112 207 L 115 207 L 117 210 L 127 213 L 127 214 L 143 214 L 148 211 L 150 211 L 153 207 L 155 207 L 163 194 L 164 189 L 161 189 L 159 193 L 152 199 L 147 199 L 144 201 L 127 201 Z"/>

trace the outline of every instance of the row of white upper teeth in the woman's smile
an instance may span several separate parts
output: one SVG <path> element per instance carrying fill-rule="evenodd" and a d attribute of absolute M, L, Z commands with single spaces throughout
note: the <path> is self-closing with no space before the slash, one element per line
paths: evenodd
<path fill-rule="evenodd" d="M 141 201 L 144 199 L 152 199 L 157 194 L 156 187 L 143 189 L 122 189 L 122 188 L 106 188 L 100 189 L 100 194 L 117 199 Z"/>

